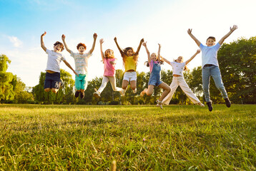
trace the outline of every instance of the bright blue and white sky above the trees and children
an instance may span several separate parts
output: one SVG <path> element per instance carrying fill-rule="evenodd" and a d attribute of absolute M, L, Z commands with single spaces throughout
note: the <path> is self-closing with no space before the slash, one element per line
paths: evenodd
<path fill-rule="evenodd" d="M 0 53 L 11 59 L 8 71 L 16 74 L 26 86 L 36 86 L 39 75 L 46 68 L 47 55 L 40 47 L 40 36 L 46 31 L 44 43 L 52 49 L 55 41 L 66 41 L 72 51 L 77 43 L 92 47 L 93 34 L 97 43 L 89 59 L 89 80 L 103 74 L 99 51 L 99 39 L 104 38 L 103 48 L 114 50 L 119 59 L 117 69 L 122 69 L 122 58 L 114 44 L 114 36 L 122 48 L 137 48 L 141 38 L 147 41 L 149 51 L 157 52 L 157 43 L 162 44 L 161 54 L 172 61 L 178 56 L 184 59 L 197 51 L 197 45 L 187 34 L 192 33 L 202 42 L 208 36 L 217 41 L 236 24 L 237 31 L 225 43 L 237 38 L 256 36 L 255 0 L 137 0 L 137 1 L 49 1 L 49 0 L 0 0 Z M 63 52 L 74 68 L 74 59 Z M 149 71 L 144 66 L 147 54 L 142 46 L 139 53 L 138 71 Z M 189 63 L 192 69 L 201 65 L 201 55 Z M 61 63 L 61 68 L 72 71 Z M 167 63 L 162 67 L 172 69 Z M 73 74 L 74 75 L 74 74 Z M 73 76 L 74 78 L 74 76 Z"/>

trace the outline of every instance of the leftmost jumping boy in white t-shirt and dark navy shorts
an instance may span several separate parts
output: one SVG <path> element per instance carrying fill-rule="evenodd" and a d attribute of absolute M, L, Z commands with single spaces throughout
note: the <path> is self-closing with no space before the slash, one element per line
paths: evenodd
<path fill-rule="evenodd" d="M 46 35 L 46 32 L 41 35 L 41 48 L 48 54 L 47 66 L 46 66 L 46 76 L 44 81 L 44 90 L 49 92 L 50 90 L 53 93 L 57 93 L 61 86 L 61 78 L 60 78 L 60 68 L 59 65 L 61 61 L 63 61 L 76 75 L 77 72 L 74 71 L 72 66 L 66 61 L 64 56 L 61 54 L 61 51 L 64 50 L 64 46 L 61 42 L 56 41 L 54 43 L 54 51 L 47 49 L 44 46 L 43 37 Z"/>

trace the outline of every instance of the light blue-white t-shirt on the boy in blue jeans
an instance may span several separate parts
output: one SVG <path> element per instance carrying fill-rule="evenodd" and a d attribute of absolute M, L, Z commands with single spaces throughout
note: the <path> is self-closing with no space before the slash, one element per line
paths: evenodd
<path fill-rule="evenodd" d="M 199 47 L 202 51 L 202 67 L 204 67 L 205 64 L 219 66 L 217 52 L 219 51 L 220 46 L 220 43 L 217 43 L 215 46 L 204 46 L 202 43 L 200 44 Z"/>

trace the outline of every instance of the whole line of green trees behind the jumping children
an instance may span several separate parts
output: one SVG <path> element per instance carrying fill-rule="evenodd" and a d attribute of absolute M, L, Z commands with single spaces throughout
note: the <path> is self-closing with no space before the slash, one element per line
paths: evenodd
<path fill-rule="evenodd" d="M 224 43 L 218 52 L 220 71 L 227 93 L 232 103 L 256 103 L 256 37 L 249 39 L 239 38 L 232 43 Z M 26 85 L 13 73 L 6 72 L 11 61 L 2 54 L 0 56 L 0 103 L 38 103 L 38 104 L 109 104 L 109 105 L 144 105 L 154 104 L 155 100 L 162 94 L 159 88 L 154 88 L 152 97 L 143 98 L 139 93 L 147 88 L 150 73 L 137 72 L 137 92 L 132 93 L 128 87 L 124 97 L 119 92 L 114 92 L 110 83 L 101 93 L 101 98 L 93 97 L 94 88 L 99 88 L 102 77 L 89 81 L 87 90 L 84 91 L 84 99 L 74 98 L 74 80 L 72 75 L 61 69 L 61 79 L 64 81 L 64 88 L 57 94 L 44 92 L 45 73 L 41 72 L 39 84 L 33 88 L 26 88 Z M 162 81 L 172 83 L 172 71 L 162 71 Z M 124 72 L 117 70 L 117 86 L 122 86 Z M 193 68 L 184 71 L 184 79 L 189 88 L 203 102 L 202 91 L 202 68 Z M 224 103 L 220 91 L 214 86 L 211 78 L 210 93 L 213 103 Z M 192 104 L 189 98 L 177 88 L 170 104 Z"/>

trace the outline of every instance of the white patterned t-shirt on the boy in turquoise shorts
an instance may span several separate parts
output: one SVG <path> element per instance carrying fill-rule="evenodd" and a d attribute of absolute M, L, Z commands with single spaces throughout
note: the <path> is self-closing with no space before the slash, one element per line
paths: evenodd
<path fill-rule="evenodd" d="M 92 54 L 84 53 L 81 55 L 79 53 L 74 53 L 73 51 L 71 51 L 70 56 L 74 58 L 74 64 L 76 66 L 75 71 L 78 74 L 86 74 L 88 68 L 88 58 L 92 56 Z"/>

